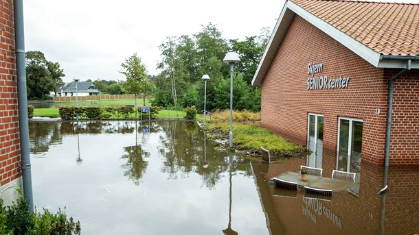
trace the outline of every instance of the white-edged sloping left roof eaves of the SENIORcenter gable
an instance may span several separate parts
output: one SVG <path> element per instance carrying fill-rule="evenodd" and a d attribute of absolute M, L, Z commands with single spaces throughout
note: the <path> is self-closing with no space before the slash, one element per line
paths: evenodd
<path fill-rule="evenodd" d="M 280 17 L 278 18 L 275 28 L 273 29 L 267 48 L 264 50 L 262 59 L 259 62 L 258 69 L 256 70 L 256 73 L 251 81 L 252 86 L 261 86 L 262 80 L 266 75 L 273 58 L 275 57 L 278 47 L 280 47 L 286 30 L 288 29 L 288 25 L 291 23 L 291 20 L 295 15 L 295 13 L 289 10 L 287 7 L 289 3 L 290 1 L 286 1 L 284 8 L 282 8 Z"/>

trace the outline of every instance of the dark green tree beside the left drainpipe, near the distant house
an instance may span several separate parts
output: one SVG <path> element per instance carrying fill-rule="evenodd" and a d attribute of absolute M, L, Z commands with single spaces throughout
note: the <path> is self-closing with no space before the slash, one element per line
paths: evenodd
<path fill-rule="evenodd" d="M 56 82 L 48 69 L 48 63 L 54 66 L 58 63 L 48 62 L 41 51 L 27 51 L 25 55 L 27 98 L 41 99 L 56 88 Z M 57 72 L 57 75 L 62 73 L 58 68 L 59 65 L 56 66 L 57 71 L 54 71 Z"/>

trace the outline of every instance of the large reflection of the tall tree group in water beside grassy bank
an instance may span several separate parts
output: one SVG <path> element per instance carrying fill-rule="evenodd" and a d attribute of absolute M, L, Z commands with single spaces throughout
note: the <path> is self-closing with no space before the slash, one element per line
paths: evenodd
<path fill-rule="evenodd" d="M 177 179 L 179 172 L 181 177 L 195 172 L 201 175 L 207 188 L 214 188 L 221 175 L 229 169 L 229 157 L 223 158 L 225 153 L 216 152 L 212 145 L 206 148 L 204 136 L 194 122 L 160 124 L 166 133 L 166 138 L 161 137 L 164 148 L 160 153 L 166 158 L 161 171 L 168 173 L 170 179 Z M 244 158 L 234 158 L 231 170 L 251 175 L 249 160 Z"/>

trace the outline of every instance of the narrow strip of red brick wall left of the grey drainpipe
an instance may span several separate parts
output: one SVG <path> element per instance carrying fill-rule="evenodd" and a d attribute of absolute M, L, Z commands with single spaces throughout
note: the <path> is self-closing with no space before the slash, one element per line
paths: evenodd
<path fill-rule="evenodd" d="M 2 1 L 0 11 L 0 186 L 3 186 L 20 177 L 21 153 L 13 1 Z"/>

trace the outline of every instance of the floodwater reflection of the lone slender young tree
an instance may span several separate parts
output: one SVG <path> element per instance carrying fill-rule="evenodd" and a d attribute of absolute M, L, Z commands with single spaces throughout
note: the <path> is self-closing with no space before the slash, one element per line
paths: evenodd
<path fill-rule="evenodd" d="M 124 151 L 126 154 L 122 158 L 126 159 L 126 164 L 121 166 L 126 170 L 124 175 L 133 180 L 135 185 L 138 185 L 148 166 L 148 162 L 144 158 L 150 157 L 150 153 L 141 149 L 141 145 L 124 147 Z"/>

